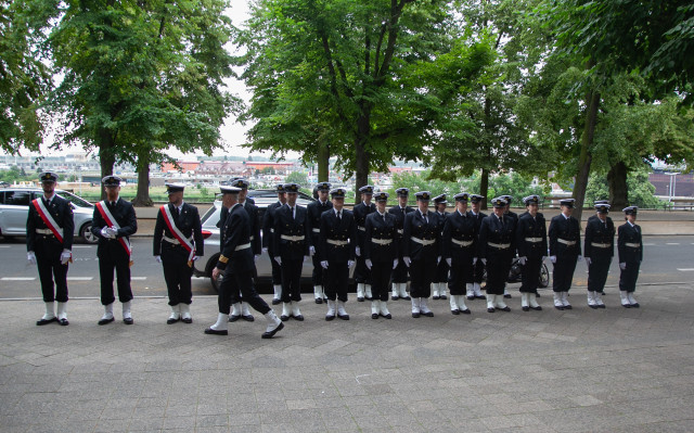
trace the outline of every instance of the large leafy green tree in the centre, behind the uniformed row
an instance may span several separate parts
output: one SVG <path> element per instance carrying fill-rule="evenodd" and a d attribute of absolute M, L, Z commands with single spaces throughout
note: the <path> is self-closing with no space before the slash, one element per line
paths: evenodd
<path fill-rule="evenodd" d="M 441 102 L 490 59 L 464 43 L 450 1 L 261 0 L 252 13 L 239 39 L 249 145 L 304 152 L 319 178 L 335 155 L 358 188 L 394 156 L 422 157 Z"/>

